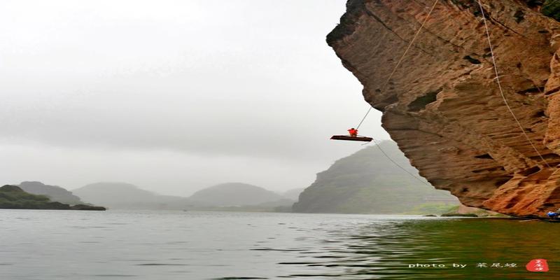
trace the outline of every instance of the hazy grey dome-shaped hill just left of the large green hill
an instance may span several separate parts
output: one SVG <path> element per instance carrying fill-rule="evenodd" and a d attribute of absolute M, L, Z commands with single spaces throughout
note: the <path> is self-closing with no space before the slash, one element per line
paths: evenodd
<path fill-rule="evenodd" d="M 270 190 L 246 183 L 223 183 L 199 190 L 188 198 L 190 202 L 213 207 L 248 206 L 284 201 L 285 197 Z"/>

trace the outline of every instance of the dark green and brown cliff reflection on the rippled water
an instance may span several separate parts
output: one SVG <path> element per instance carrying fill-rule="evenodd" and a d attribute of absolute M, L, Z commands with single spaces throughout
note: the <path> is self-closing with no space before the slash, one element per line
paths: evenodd
<path fill-rule="evenodd" d="M 556 228 L 537 221 L 492 219 L 395 220 L 341 227 L 319 240 L 323 246 L 301 253 L 312 255 L 317 262 L 307 266 L 321 267 L 321 273 L 289 276 L 560 279 L 558 269 L 552 269 L 559 267 L 560 246 L 551 242 Z M 533 258 L 549 260 L 551 271 L 527 272 L 525 265 Z"/>

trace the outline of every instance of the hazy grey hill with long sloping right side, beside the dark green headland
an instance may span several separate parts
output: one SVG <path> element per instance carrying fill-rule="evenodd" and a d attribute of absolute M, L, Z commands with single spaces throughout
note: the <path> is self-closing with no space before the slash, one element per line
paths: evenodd
<path fill-rule="evenodd" d="M 73 193 L 110 209 L 185 209 L 188 204 L 185 197 L 158 195 L 129 183 L 92 183 Z"/>

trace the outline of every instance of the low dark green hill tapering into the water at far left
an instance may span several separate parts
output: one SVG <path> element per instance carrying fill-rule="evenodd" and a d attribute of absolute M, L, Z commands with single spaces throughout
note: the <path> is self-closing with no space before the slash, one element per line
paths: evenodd
<path fill-rule="evenodd" d="M 70 206 L 52 202 L 45 195 L 26 193 L 18 186 L 6 185 L 0 188 L 0 209 L 44 209 L 44 210 L 105 210 L 83 204 Z"/>

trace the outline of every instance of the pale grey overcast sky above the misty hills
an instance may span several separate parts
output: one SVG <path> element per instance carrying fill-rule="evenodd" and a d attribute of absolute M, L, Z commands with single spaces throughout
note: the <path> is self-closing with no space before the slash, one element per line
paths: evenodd
<path fill-rule="evenodd" d="M 0 185 L 309 186 L 363 148 L 329 140 L 367 110 L 325 43 L 345 2 L 1 1 Z"/>

